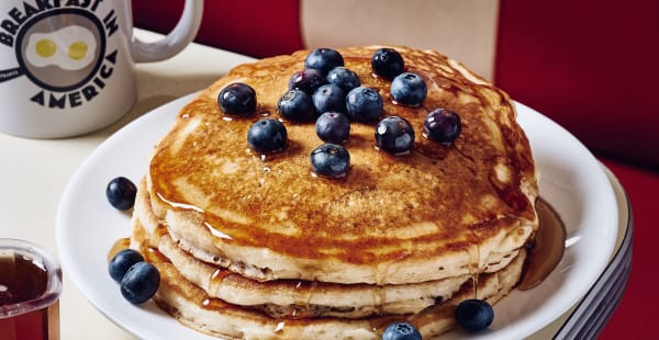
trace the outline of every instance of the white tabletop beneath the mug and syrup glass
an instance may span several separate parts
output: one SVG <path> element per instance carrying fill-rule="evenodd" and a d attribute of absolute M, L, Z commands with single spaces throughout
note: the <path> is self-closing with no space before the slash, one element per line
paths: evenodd
<path fill-rule="evenodd" d="M 144 39 L 157 38 L 136 31 Z M 113 125 L 80 137 L 26 139 L 0 133 L 0 237 L 35 242 L 57 254 L 55 217 L 69 178 L 96 147 L 136 117 L 181 95 L 201 90 L 237 64 L 252 60 L 192 44 L 177 56 L 136 66 L 137 102 Z M 60 304 L 63 340 L 134 339 L 105 319 L 64 271 Z"/>

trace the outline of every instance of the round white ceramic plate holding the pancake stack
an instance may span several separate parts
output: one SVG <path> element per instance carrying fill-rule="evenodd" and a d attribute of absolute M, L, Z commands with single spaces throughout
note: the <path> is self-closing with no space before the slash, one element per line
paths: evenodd
<path fill-rule="evenodd" d="M 105 185 L 118 175 L 139 180 L 154 146 L 191 95 L 154 110 L 102 143 L 71 178 L 57 214 L 64 271 L 101 313 L 143 339 L 209 337 L 179 325 L 153 302 L 133 306 L 121 296 L 108 275 L 107 256 L 118 239 L 130 235 L 130 214 L 109 205 Z M 599 161 L 556 123 L 522 104 L 517 110 L 541 172 L 540 193 L 567 225 L 567 249 L 539 286 L 514 291 L 495 305 L 494 322 L 479 338 L 525 338 L 561 316 L 602 273 L 618 234 L 618 207 Z M 446 337 L 465 333 L 454 331 Z"/>

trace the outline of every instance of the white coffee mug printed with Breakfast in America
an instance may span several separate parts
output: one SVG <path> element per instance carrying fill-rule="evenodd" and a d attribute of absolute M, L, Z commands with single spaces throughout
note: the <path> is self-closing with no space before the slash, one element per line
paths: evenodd
<path fill-rule="evenodd" d="M 180 52 L 202 10 L 186 0 L 176 27 L 144 43 L 130 0 L 0 1 L 0 132 L 60 138 L 116 122 L 136 99 L 135 63 Z"/>

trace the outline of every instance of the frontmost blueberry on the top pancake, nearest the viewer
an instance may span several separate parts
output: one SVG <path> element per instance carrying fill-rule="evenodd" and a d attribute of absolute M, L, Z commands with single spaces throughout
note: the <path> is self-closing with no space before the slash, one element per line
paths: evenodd
<path fill-rule="evenodd" d="M 350 154 L 340 145 L 323 144 L 311 151 L 311 168 L 315 174 L 328 178 L 345 175 L 350 166 Z"/>

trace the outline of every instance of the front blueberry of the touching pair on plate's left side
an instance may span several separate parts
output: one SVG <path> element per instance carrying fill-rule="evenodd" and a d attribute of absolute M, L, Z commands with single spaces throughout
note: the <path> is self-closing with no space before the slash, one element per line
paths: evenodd
<path fill-rule="evenodd" d="M 133 264 L 121 280 L 121 295 L 132 304 L 142 304 L 156 294 L 160 272 L 148 262 Z"/>

